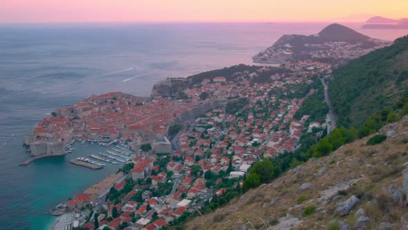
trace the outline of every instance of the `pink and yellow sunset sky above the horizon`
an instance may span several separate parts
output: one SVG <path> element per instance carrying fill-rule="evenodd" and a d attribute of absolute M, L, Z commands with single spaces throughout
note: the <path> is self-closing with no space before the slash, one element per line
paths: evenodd
<path fill-rule="evenodd" d="M 408 17 L 407 0 L 0 0 L 0 23 L 365 21 Z"/>

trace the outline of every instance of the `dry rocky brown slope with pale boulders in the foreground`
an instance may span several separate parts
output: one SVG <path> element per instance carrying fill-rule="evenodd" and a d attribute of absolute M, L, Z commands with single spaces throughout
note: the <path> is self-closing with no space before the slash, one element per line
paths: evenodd
<path fill-rule="evenodd" d="M 286 172 L 187 229 L 408 229 L 408 116 Z M 405 180 L 404 180 L 405 179 Z"/>

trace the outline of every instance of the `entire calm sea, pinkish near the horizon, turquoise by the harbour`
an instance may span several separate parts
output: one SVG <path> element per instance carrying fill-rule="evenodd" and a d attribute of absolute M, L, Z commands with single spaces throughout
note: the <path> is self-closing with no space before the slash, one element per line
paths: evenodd
<path fill-rule="evenodd" d="M 0 229 L 49 229 L 57 204 L 117 172 L 68 161 L 106 150 L 75 143 L 72 153 L 28 159 L 24 136 L 44 116 L 91 94 L 149 96 L 155 82 L 235 64 L 281 35 L 312 35 L 328 23 L 0 24 Z M 360 30 L 393 40 L 408 30 Z"/>

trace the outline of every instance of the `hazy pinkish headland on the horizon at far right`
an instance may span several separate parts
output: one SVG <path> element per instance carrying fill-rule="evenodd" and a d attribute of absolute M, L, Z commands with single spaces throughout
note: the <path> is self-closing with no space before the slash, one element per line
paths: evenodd
<path fill-rule="evenodd" d="M 364 26 L 364 29 L 405 29 L 408 28 L 408 18 L 402 19 L 389 19 L 386 17 L 371 17 L 368 19 Z"/>

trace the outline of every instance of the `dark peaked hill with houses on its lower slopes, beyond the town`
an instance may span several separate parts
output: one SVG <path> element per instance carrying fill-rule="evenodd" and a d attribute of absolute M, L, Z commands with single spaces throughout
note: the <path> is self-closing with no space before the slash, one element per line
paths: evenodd
<path fill-rule="evenodd" d="M 275 44 L 252 57 L 258 63 L 297 60 L 344 62 L 387 45 L 340 24 L 331 24 L 315 35 L 283 35 Z"/>

